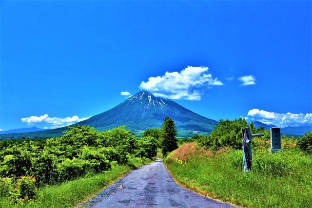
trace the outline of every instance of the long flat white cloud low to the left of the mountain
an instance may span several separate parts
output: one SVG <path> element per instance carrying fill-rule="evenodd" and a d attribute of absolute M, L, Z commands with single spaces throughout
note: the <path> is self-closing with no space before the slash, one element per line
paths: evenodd
<path fill-rule="evenodd" d="M 24 123 L 27 123 L 28 125 L 50 124 L 50 125 L 55 125 L 56 128 L 59 128 L 59 127 L 64 127 L 67 125 L 72 125 L 72 124 L 78 123 L 78 122 L 86 120 L 90 117 L 91 116 L 89 116 L 87 118 L 79 118 L 77 115 L 74 115 L 73 117 L 66 117 L 66 118 L 58 118 L 58 117 L 52 117 L 51 118 L 48 116 L 48 114 L 44 114 L 44 115 L 41 115 L 39 117 L 38 116 L 30 116 L 27 118 L 21 118 L 21 121 Z M 59 126 L 59 127 L 57 127 L 57 126 Z M 49 127 L 49 128 L 51 128 L 51 127 Z"/>

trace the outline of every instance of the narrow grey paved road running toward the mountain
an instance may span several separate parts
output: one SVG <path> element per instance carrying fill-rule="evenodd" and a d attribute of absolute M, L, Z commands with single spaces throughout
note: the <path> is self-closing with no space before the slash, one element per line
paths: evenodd
<path fill-rule="evenodd" d="M 235 208 L 183 189 L 161 159 L 131 170 L 89 201 L 91 208 Z"/>

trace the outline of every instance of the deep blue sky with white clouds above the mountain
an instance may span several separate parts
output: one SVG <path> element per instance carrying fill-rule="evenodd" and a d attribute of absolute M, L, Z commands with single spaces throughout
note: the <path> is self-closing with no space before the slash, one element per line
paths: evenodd
<path fill-rule="evenodd" d="M 0 129 L 142 90 L 211 119 L 312 125 L 311 1 L 0 1 Z"/>

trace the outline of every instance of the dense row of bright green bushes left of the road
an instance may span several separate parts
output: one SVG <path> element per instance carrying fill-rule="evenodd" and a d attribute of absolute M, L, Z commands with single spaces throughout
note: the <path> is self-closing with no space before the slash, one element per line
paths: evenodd
<path fill-rule="evenodd" d="M 152 158 L 157 152 L 153 137 L 137 138 L 121 126 L 106 132 L 93 127 L 68 127 L 65 135 L 41 141 L 1 142 L 0 177 L 16 181 L 28 171 L 38 187 L 127 164 L 137 155 Z"/>

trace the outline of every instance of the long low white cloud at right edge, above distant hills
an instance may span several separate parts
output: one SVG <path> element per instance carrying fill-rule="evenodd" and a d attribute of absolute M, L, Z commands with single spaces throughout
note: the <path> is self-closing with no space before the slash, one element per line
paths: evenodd
<path fill-rule="evenodd" d="M 252 116 L 252 120 L 257 120 L 265 124 L 274 124 L 277 127 L 312 125 L 312 113 L 284 114 L 253 109 L 247 115 Z"/>

